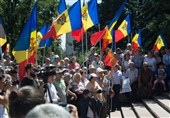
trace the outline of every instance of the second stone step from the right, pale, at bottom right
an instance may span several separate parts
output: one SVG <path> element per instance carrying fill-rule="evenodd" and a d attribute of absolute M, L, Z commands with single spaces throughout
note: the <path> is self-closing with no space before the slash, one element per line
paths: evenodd
<path fill-rule="evenodd" d="M 151 112 L 151 114 L 156 118 L 170 118 L 170 113 L 168 113 L 164 108 L 162 108 L 158 103 L 152 100 L 142 100 L 145 107 Z"/>

